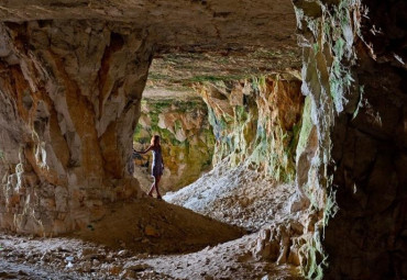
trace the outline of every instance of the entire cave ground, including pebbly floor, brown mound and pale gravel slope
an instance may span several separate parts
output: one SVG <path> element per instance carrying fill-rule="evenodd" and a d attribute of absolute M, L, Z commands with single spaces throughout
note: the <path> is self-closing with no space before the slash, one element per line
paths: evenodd
<path fill-rule="evenodd" d="M 211 217 L 142 199 L 113 205 L 105 219 L 75 235 L 2 235 L 0 279 L 301 279 L 297 268 L 253 254 L 256 232 L 271 216 L 288 215 L 292 188 L 243 169 L 227 172 L 219 165 L 165 197 Z"/>

